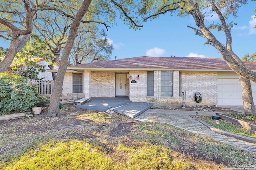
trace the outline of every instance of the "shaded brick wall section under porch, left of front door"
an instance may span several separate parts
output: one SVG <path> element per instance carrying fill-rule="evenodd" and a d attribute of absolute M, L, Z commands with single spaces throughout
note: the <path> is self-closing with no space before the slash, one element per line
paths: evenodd
<path fill-rule="evenodd" d="M 115 97 L 115 72 L 91 72 L 90 95 L 91 97 Z"/>

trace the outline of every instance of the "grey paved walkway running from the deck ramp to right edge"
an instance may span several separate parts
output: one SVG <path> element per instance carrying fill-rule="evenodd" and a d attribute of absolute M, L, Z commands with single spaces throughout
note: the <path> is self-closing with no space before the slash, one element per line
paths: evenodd
<path fill-rule="evenodd" d="M 150 121 L 167 123 L 175 127 L 211 137 L 217 141 L 226 143 L 228 145 L 238 147 L 242 150 L 253 152 L 256 154 L 256 144 L 241 141 L 232 137 L 227 137 L 215 133 L 204 126 L 202 123 L 196 121 L 189 115 L 195 115 L 195 111 L 178 111 L 178 110 L 164 110 L 164 109 L 148 109 L 141 115 L 138 115 L 135 119 L 138 121 Z M 203 112 L 200 111 L 198 115 L 215 115 L 215 112 Z"/>

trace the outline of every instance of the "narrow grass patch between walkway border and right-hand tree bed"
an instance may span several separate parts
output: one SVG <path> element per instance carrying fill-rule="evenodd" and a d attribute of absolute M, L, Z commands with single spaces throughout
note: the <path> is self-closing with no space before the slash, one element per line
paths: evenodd
<path fill-rule="evenodd" d="M 223 119 L 219 119 L 220 124 L 218 127 L 218 125 L 216 124 L 216 121 L 214 119 L 212 119 L 211 117 L 206 117 L 206 116 L 198 116 L 198 117 L 217 129 L 256 139 L 256 134 L 251 133 L 250 131 L 248 131 L 242 127 L 233 125 L 232 123 L 229 123 L 228 121 L 225 121 Z"/>

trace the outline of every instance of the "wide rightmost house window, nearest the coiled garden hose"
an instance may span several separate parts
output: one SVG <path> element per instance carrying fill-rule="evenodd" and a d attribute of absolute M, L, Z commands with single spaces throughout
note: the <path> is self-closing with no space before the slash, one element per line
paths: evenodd
<path fill-rule="evenodd" d="M 161 71 L 161 96 L 173 97 L 172 71 Z"/>

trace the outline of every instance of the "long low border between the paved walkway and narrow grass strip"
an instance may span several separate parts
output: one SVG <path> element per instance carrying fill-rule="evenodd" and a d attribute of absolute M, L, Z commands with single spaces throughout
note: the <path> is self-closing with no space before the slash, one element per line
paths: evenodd
<path fill-rule="evenodd" d="M 214 131 L 215 133 L 219 133 L 219 134 L 226 135 L 226 136 L 229 136 L 229 137 L 234 137 L 236 139 L 240 139 L 242 141 L 246 141 L 246 142 L 250 142 L 250 143 L 256 143 L 256 139 L 252 139 L 250 137 L 245 137 L 245 136 L 242 136 L 242 135 L 236 135 L 234 133 L 230 133 L 230 132 L 222 131 L 220 129 L 216 129 L 215 127 L 213 127 L 213 126 L 209 125 L 208 123 L 202 121 L 201 119 L 197 118 L 196 116 L 193 116 L 193 115 L 189 115 L 189 116 L 196 119 L 197 121 L 199 121 L 200 123 L 202 123 L 203 125 L 208 127 L 211 131 Z"/>

